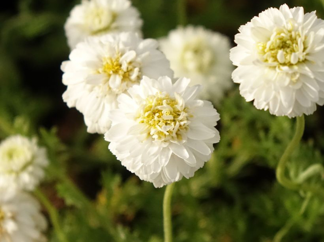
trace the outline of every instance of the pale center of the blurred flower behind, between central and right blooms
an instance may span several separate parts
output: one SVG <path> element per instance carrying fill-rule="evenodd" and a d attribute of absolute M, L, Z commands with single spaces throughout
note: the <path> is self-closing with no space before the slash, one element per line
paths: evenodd
<path fill-rule="evenodd" d="M 213 50 L 201 39 L 191 41 L 183 48 L 181 63 L 186 71 L 205 73 L 214 62 Z"/>

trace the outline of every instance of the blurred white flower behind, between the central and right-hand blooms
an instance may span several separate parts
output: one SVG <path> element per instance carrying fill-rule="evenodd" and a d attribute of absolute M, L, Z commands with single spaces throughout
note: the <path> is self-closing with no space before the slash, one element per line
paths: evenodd
<path fill-rule="evenodd" d="M 160 39 L 176 77 L 185 76 L 191 84 L 203 85 L 199 98 L 218 103 L 233 82 L 229 60 L 229 39 L 204 27 L 179 27 Z"/>

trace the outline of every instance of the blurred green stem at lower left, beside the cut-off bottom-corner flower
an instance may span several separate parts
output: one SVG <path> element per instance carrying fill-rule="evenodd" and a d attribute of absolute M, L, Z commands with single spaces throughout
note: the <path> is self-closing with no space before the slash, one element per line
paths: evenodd
<path fill-rule="evenodd" d="M 55 229 L 55 232 L 56 232 L 59 240 L 61 242 L 68 242 L 68 240 L 65 237 L 65 234 L 60 226 L 59 215 L 58 215 L 56 208 L 51 204 L 49 199 L 44 195 L 44 193 L 41 190 L 36 189 L 34 191 L 34 195 L 39 199 L 39 201 L 42 202 L 44 207 L 47 209 L 47 211 L 50 215 L 51 222 L 53 224 L 53 227 Z"/>

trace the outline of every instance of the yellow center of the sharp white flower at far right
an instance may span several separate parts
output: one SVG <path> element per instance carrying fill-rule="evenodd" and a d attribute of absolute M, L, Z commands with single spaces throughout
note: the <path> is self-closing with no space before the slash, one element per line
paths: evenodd
<path fill-rule="evenodd" d="M 273 66 L 291 66 L 305 60 L 305 41 L 299 31 L 275 28 L 269 41 L 259 42 L 257 50 L 263 62 Z"/>

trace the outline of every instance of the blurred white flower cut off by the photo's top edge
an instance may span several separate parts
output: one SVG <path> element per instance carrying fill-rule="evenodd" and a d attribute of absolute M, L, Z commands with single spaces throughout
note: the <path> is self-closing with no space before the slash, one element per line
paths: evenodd
<path fill-rule="evenodd" d="M 138 32 L 142 20 L 129 0 L 82 0 L 67 19 L 64 29 L 68 44 L 74 49 L 88 36 L 106 33 Z"/>

